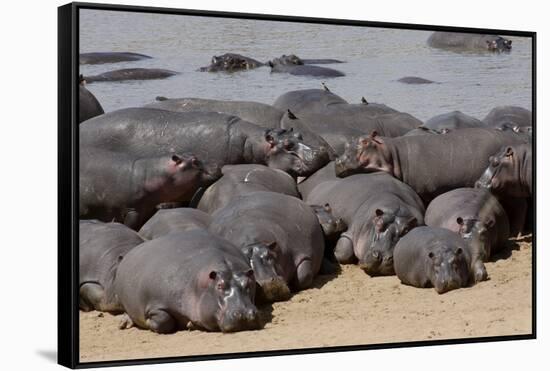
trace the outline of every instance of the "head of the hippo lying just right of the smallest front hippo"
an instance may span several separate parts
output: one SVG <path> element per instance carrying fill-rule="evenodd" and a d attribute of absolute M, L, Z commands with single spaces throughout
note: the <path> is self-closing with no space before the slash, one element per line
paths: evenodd
<path fill-rule="evenodd" d="M 485 281 L 487 279 L 487 270 L 483 262 L 491 255 L 488 233 L 489 228 L 494 225 L 494 220 L 480 221 L 478 219 L 463 219 L 458 217 L 456 222 L 459 226 L 458 233 L 468 242 L 472 249 L 472 259 L 476 262 L 473 267 L 475 281 Z"/>

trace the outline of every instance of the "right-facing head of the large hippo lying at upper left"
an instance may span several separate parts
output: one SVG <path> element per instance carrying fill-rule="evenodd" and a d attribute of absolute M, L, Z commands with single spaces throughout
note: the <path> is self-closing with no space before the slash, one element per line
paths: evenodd
<path fill-rule="evenodd" d="M 311 175 L 329 162 L 327 148 L 307 146 L 302 135 L 292 128 L 266 130 L 265 142 L 267 166 L 283 170 L 293 177 Z"/>

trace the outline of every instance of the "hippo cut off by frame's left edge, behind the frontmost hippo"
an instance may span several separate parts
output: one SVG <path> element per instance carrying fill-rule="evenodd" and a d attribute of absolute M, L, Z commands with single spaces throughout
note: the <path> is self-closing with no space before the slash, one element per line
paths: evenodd
<path fill-rule="evenodd" d="M 114 293 L 116 271 L 124 255 L 143 239 L 122 224 L 97 220 L 81 220 L 78 235 L 80 309 L 123 312 Z"/>

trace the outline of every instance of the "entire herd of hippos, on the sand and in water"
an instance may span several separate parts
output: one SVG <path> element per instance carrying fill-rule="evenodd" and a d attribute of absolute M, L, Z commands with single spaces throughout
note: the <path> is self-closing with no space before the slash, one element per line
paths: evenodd
<path fill-rule="evenodd" d="M 435 36 L 434 47 L 511 48 Z M 328 63 L 342 62 L 226 54 L 201 70 L 315 75 Z M 272 105 L 157 97 L 104 113 L 80 88 L 80 309 L 124 314 L 121 329 L 261 329 L 259 304 L 341 264 L 443 294 L 487 280 L 484 263 L 532 228 L 532 115 L 521 107 L 424 123 L 323 84 Z"/>

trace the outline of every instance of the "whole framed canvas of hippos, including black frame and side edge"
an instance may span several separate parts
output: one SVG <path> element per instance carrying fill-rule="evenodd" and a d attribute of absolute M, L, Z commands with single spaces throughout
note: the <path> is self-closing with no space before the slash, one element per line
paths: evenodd
<path fill-rule="evenodd" d="M 58 20 L 60 364 L 536 337 L 535 32 Z"/>

